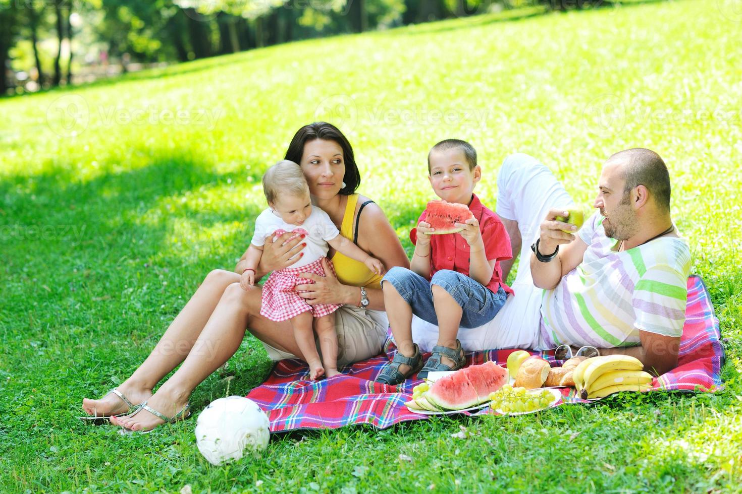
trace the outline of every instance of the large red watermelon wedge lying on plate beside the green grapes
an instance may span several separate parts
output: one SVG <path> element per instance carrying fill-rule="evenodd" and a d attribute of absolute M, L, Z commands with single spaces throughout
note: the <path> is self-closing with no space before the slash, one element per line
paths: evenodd
<path fill-rule="evenodd" d="M 494 362 L 473 365 L 445 375 L 430 386 L 425 398 L 446 410 L 463 410 L 490 399 L 508 381 L 508 371 Z"/>

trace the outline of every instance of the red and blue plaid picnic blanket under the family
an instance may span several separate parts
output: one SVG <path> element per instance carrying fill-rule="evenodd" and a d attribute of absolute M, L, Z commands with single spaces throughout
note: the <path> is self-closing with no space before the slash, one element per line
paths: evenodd
<path fill-rule="evenodd" d="M 709 299 L 708 290 L 699 276 L 688 278 L 686 323 L 680 340 L 678 367 L 654 378 L 651 390 L 714 391 L 721 385 L 720 369 L 724 351 L 720 343 L 719 321 Z M 505 364 L 516 349 L 483 350 L 467 353 L 467 365 L 496 361 Z M 373 379 L 396 352 L 393 340 L 384 344 L 386 355 L 357 362 L 322 381 L 309 381 L 306 364 L 299 360 L 282 360 L 275 364 L 267 381 L 247 397 L 269 414 L 272 433 L 297 429 L 335 429 L 349 424 L 371 424 L 384 429 L 401 421 L 430 418 L 410 412 L 404 406 L 413 387 L 421 380 L 408 379 L 404 384 L 388 386 Z M 552 364 L 549 352 L 541 355 Z M 650 390 L 650 391 L 651 391 Z M 574 396 L 574 389 L 562 389 L 559 404 L 587 403 Z M 464 412 L 465 413 L 465 412 Z M 483 410 L 482 413 L 493 413 Z M 471 413 L 465 413 L 471 415 Z"/>

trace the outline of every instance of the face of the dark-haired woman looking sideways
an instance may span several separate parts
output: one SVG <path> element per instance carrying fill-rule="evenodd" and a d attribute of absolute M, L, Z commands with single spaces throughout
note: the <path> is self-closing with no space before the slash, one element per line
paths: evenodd
<path fill-rule="evenodd" d="M 309 184 L 309 193 L 318 199 L 329 199 L 343 188 L 345 161 L 343 148 L 335 141 L 306 141 L 301 156 L 301 171 Z"/>

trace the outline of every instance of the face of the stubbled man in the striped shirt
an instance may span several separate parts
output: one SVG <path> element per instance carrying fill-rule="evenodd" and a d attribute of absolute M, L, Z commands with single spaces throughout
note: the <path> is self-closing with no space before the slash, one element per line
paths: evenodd
<path fill-rule="evenodd" d="M 623 163 L 606 163 L 598 181 L 598 195 L 594 207 L 603 215 L 605 235 L 626 240 L 637 233 L 637 215 L 631 207 L 631 193 L 623 193 Z"/>

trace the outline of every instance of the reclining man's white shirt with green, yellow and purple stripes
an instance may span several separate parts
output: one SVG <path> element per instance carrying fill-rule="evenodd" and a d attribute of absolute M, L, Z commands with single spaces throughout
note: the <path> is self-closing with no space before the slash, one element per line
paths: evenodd
<path fill-rule="evenodd" d="M 582 263 L 544 290 L 541 335 L 546 344 L 598 348 L 640 343 L 639 330 L 680 336 L 686 316 L 688 244 L 660 237 L 622 252 L 595 213 L 578 233 L 588 244 Z"/>

